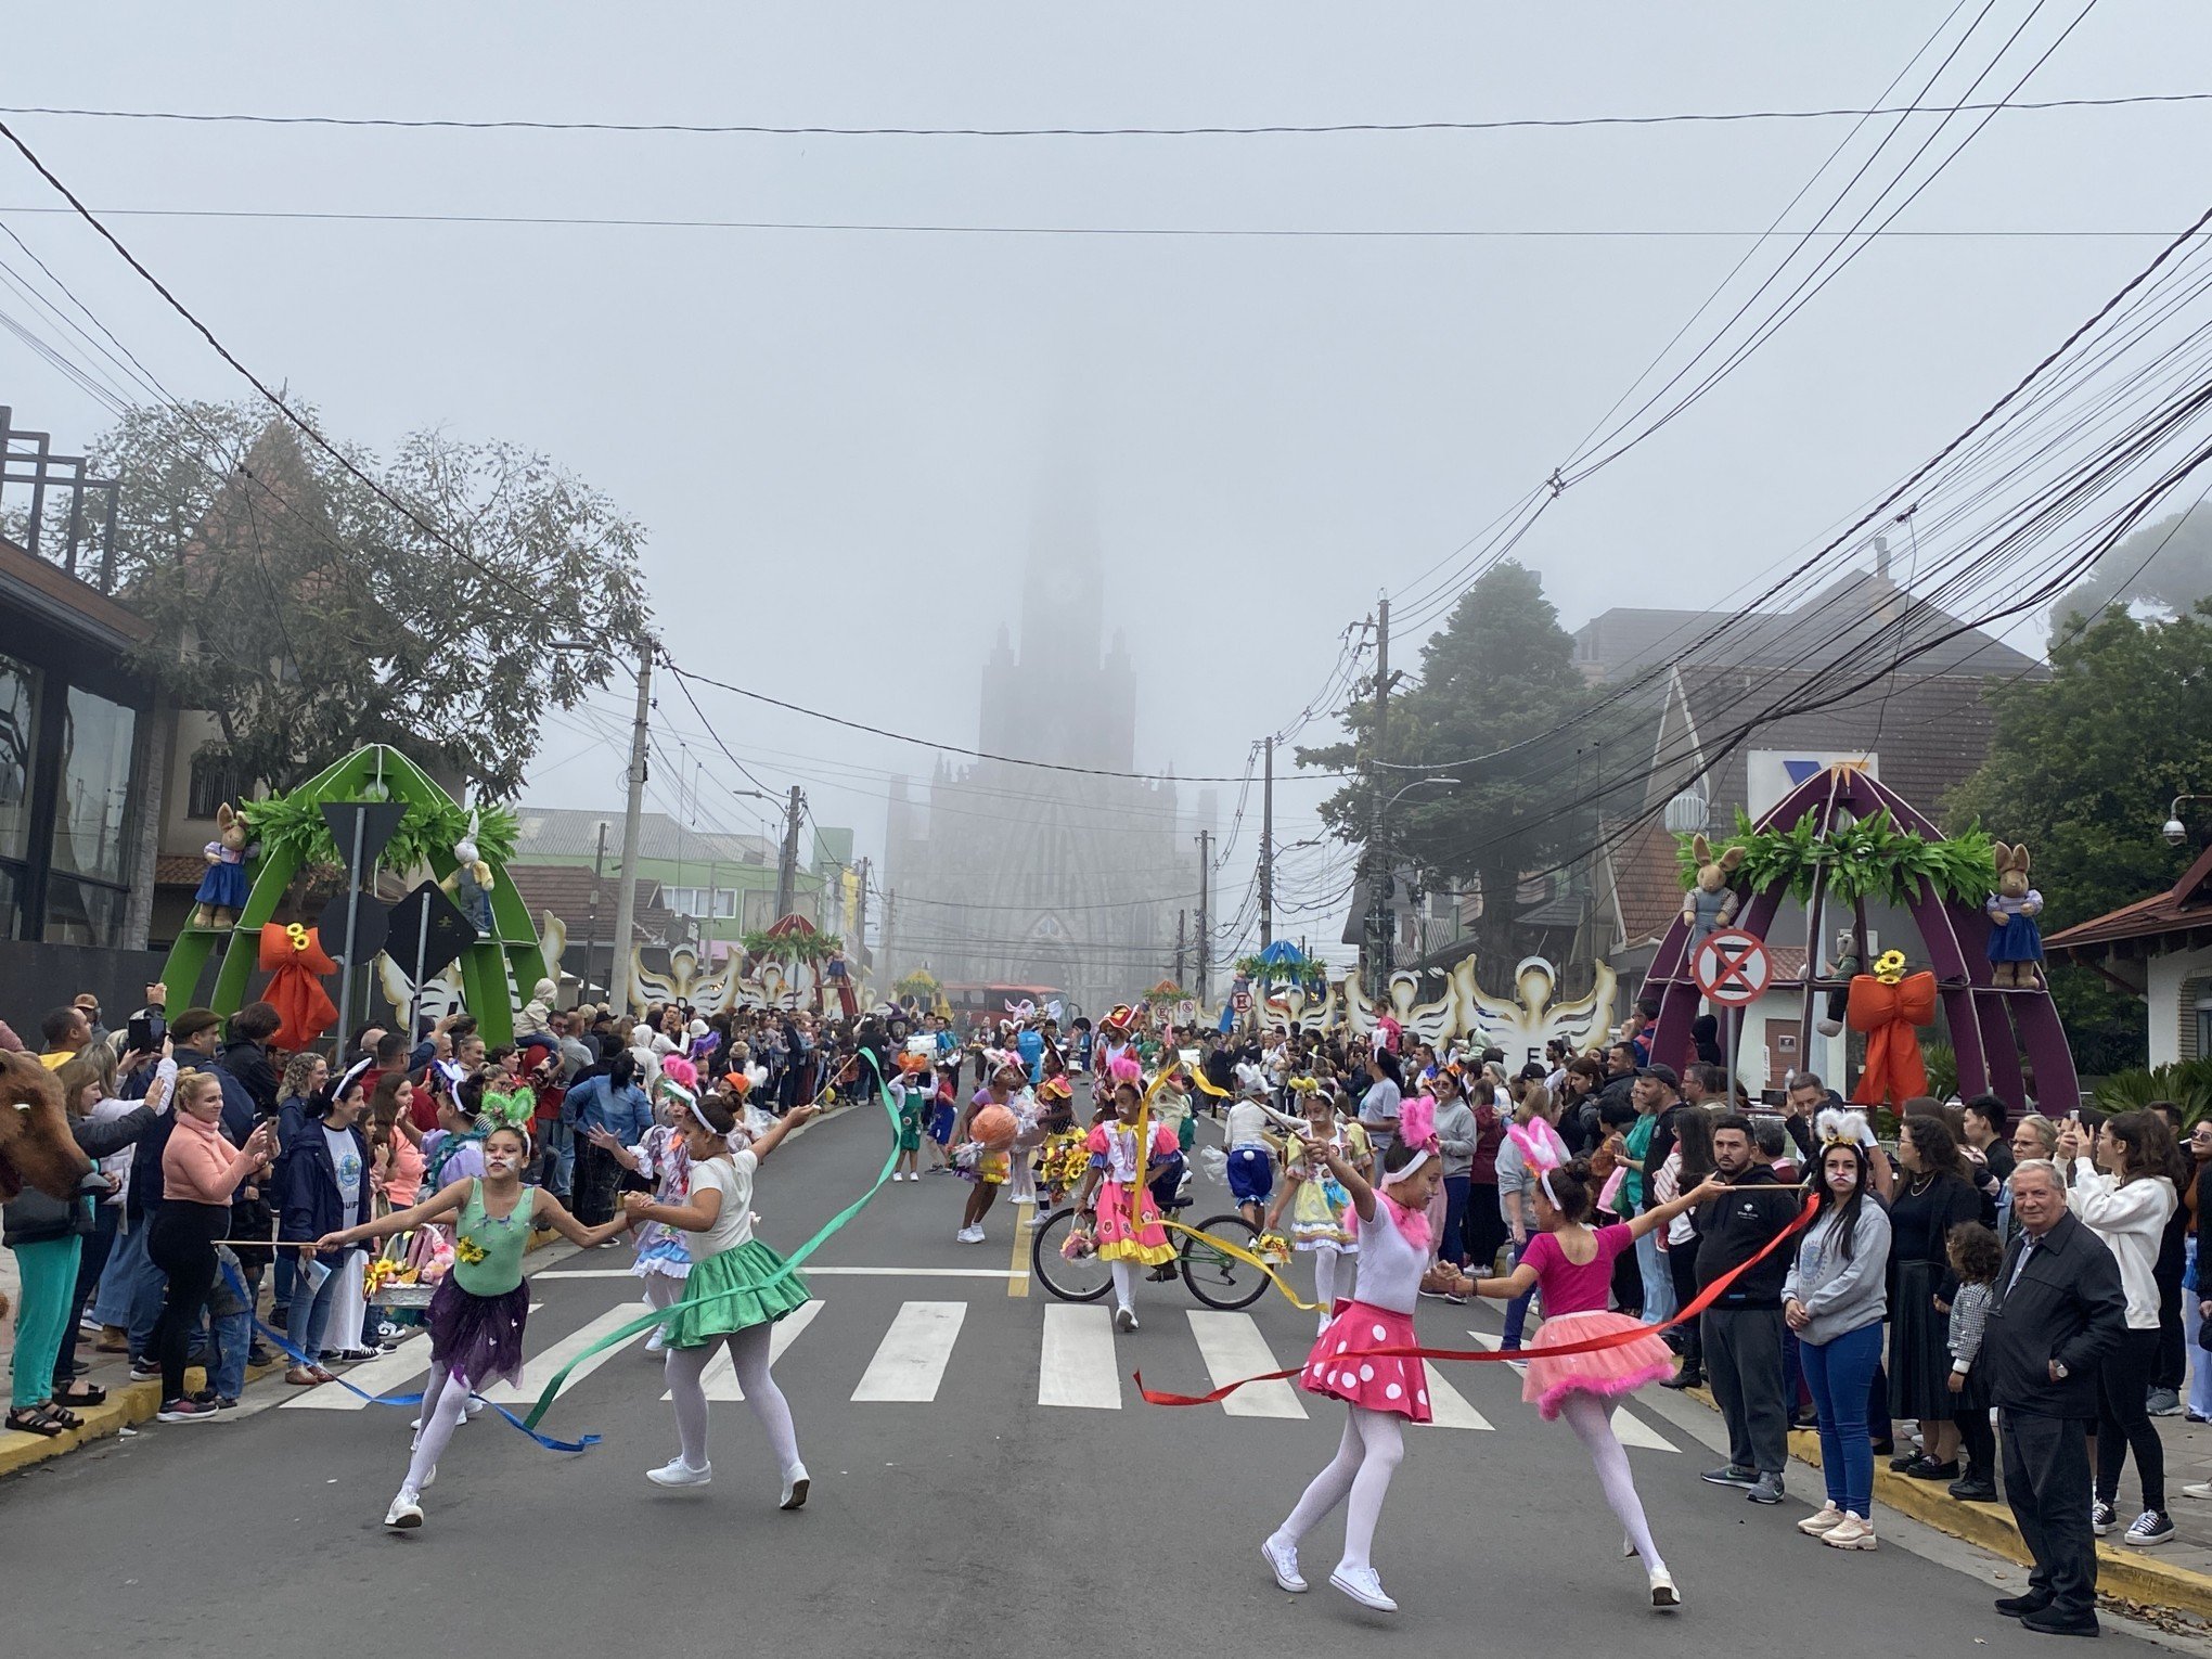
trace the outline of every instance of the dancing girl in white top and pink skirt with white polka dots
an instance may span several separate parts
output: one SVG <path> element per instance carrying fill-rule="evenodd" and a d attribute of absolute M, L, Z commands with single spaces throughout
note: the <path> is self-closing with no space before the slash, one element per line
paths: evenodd
<path fill-rule="evenodd" d="M 1298 1387 L 1349 1407 L 1336 1458 L 1314 1475 L 1298 1506 L 1261 1544 L 1261 1555 L 1285 1590 L 1303 1590 L 1298 1540 L 1338 1504 L 1345 1506 L 1345 1553 L 1329 1584 L 1376 1613 L 1396 1613 L 1383 1593 L 1371 1551 L 1383 1495 L 1405 1460 L 1400 1418 L 1429 1422 L 1429 1371 L 1418 1358 L 1369 1354 L 1411 1347 L 1413 1296 L 1429 1265 L 1429 1199 L 1442 1181 L 1442 1152 L 1427 1099 L 1405 1104 L 1398 1135 L 1383 1155 L 1376 1192 L 1334 1144 L 1314 1146 L 1329 1175 L 1352 1194 L 1360 1223 L 1360 1283 L 1354 1301 L 1336 1303 L 1336 1318 L 1305 1356 Z"/>

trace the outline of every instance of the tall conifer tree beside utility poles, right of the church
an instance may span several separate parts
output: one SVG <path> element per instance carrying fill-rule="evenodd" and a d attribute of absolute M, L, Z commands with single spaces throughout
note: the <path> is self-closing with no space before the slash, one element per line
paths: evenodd
<path fill-rule="evenodd" d="M 1420 648 L 1418 679 L 1391 692 L 1380 757 L 1376 706 L 1363 697 L 1340 712 L 1347 743 L 1301 748 L 1296 761 L 1360 770 L 1321 803 L 1321 816 L 1363 847 L 1374 836 L 1378 801 L 1413 779 L 1451 776 L 1453 787 L 1416 790 L 1389 807 L 1387 856 L 1376 863 L 1411 865 L 1438 887 L 1480 887 L 1475 947 L 1486 960 L 1511 962 L 1520 953 L 1522 876 L 1588 841 L 1588 814 L 1562 810 L 1573 796 L 1571 759 L 1562 754 L 1571 739 L 1531 741 L 1478 765 L 1453 763 L 1544 739 L 1588 695 L 1542 580 L 1504 560 L 1460 595 L 1442 630 Z M 1378 768 L 1378 759 L 1389 765 Z"/>

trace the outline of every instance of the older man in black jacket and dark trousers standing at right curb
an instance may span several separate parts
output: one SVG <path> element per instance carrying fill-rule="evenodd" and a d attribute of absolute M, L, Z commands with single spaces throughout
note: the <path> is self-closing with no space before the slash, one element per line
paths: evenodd
<path fill-rule="evenodd" d="M 2035 1557 L 2028 1593 L 1997 1613 L 2046 1635 L 2097 1635 L 2097 1540 L 2090 1533 L 2088 1425 L 2097 1363 L 2119 1347 L 2128 1298 L 2119 1263 L 2066 1212 L 2055 1166 L 2013 1170 L 2020 1237 L 2004 1252 L 1980 1367 L 2004 1429 L 2004 1498 Z"/>

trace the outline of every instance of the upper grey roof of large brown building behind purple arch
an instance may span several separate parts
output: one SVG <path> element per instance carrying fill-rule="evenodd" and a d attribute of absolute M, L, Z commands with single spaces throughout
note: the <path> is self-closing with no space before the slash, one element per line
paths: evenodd
<path fill-rule="evenodd" d="M 1896 626 L 1885 626 L 1891 622 Z M 2035 657 L 1966 628 L 1874 571 L 1851 571 L 1796 611 L 1601 611 L 1575 630 L 1575 661 L 1601 681 L 1628 679 L 1670 657 L 1681 657 L 1686 666 L 1827 672 L 1893 657 L 1900 644 L 1927 648 L 1900 670 L 1900 681 L 1920 675 L 2042 672 Z"/>

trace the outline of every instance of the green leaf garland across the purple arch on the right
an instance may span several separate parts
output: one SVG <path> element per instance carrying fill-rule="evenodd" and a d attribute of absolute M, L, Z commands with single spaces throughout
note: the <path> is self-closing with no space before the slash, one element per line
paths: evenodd
<path fill-rule="evenodd" d="M 1736 812 L 1736 834 L 1712 847 L 1719 858 L 1730 847 L 1743 849 L 1736 885 L 1752 891 L 1787 887 L 1790 896 L 1812 900 L 1814 883 L 1827 872 L 1827 891 L 1843 902 L 1860 898 L 1907 905 L 1929 883 L 1938 896 L 1980 905 L 1997 889 L 1997 854 L 1989 832 L 1978 823 L 1955 836 L 1929 841 L 1918 830 L 1900 830 L 1889 807 L 1834 825 L 1820 834 L 1818 814 L 1807 812 L 1787 830 L 1756 830 L 1745 812 Z M 1681 885 L 1697 885 L 1692 836 L 1677 836 Z"/>

